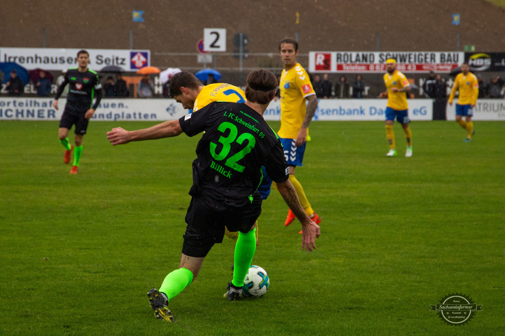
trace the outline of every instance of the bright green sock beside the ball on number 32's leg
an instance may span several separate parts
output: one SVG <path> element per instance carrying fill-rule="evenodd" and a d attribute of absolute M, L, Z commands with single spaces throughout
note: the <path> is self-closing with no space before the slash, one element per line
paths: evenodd
<path fill-rule="evenodd" d="M 244 286 L 245 276 L 256 251 L 256 228 L 244 234 L 239 232 L 235 244 L 235 256 L 233 263 L 233 286 Z"/>

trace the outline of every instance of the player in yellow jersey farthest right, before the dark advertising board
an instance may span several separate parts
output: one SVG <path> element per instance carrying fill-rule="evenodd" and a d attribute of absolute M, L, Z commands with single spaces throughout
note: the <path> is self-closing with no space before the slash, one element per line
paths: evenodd
<path fill-rule="evenodd" d="M 463 63 L 461 65 L 461 74 L 458 74 L 454 80 L 454 86 L 452 86 L 452 90 L 450 91 L 449 105 L 452 105 L 452 100 L 458 90 L 460 91 L 460 97 L 456 104 L 456 122 L 467 130 L 467 137 L 464 142 L 470 142 L 472 140 L 472 135 L 475 134 L 472 116 L 473 107 L 477 103 L 477 97 L 479 95 L 479 81 L 477 77 L 470 72 L 468 63 Z M 465 116 L 465 120 L 463 120 L 463 116 Z"/>

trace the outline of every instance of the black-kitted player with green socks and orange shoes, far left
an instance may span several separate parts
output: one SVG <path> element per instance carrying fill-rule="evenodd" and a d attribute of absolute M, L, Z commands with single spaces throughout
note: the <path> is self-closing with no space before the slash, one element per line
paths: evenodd
<path fill-rule="evenodd" d="M 77 52 L 77 63 L 79 67 L 68 69 L 65 74 L 65 80 L 58 87 L 53 106 L 58 109 L 58 98 L 63 93 L 67 84 L 69 84 L 69 93 L 67 103 L 60 120 L 58 137 L 65 147 L 64 162 L 70 162 L 72 150 L 74 152 L 74 163 L 70 174 L 77 174 L 79 169 L 79 160 L 82 153 L 82 137 L 86 134 L 88 121 L 93 117 L 96 106 L 102 99 L 102 84 L 98 80 L 98 74 L 88 69 L 89 53 L 86 50 Z M 94 104 L 93 99 L 96 98 Z M 68 140 L 68 131 L 75 125 L 75 148 Z"/>

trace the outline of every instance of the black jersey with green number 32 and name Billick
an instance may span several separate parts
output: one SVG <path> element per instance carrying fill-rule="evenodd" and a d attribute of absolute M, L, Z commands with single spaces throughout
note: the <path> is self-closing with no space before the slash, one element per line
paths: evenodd
<path fill-rule="evenodd" d="M 205 131 L 196 146 L 189 194 L 203 197 L 210 208 L 250 204 L 262 180 L 262 165 L 275 182 L 289 177 L 279 138 L 245 103 L 213 102 L 179 124 L 190 137 Z"/>

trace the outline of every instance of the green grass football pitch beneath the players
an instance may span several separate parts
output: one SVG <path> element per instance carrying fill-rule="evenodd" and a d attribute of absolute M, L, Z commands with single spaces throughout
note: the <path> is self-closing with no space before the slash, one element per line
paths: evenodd
<path fill-rule="evenodd" d="M 395 125 L 315 122 L 298 180 L 322 217 L 313 253 L 273 191 L 253 263 L 261 299 L 227 302 L 225 237 L 193 284 L 154 318 L 146 293 L 177 268 L 197 137 L 113 147 L 93 122 L 69 175 L 56 122 L 0 122 L 0 334 L 503 334 L 505 124 L 414 122 L 414 156 Z M 271 123 L 274 129 L 278 123 Z M 73 135 L 70 137 L 73 141 Z M 463 293 L 483 311 L 444 324 L 434 305 Z"/>

